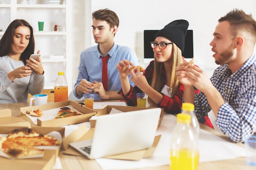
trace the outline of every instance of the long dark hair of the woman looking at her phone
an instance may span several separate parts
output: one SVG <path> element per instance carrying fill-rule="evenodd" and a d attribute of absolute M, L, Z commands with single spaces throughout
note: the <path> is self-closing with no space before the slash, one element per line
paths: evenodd
<path fill-rule="evenodd" d="M 4 35 L 0 40 L 0 57 L 8 55 L 11 51 L 11 44 L 13 43 L 13 35 L 14 30 L 19 26 L 27 26 L 30 29 L 30 38 L 29 44 L 23 53 L 20 55 L 20 60 L 26 65 L 26 60 L 29 59 L 29 56 L 34 53 L 35 50 L 35 40 L 33 35 L 33 28 L 32 26 L 25 20 L 13 20 L 11 24 L 7 27 Z"/>

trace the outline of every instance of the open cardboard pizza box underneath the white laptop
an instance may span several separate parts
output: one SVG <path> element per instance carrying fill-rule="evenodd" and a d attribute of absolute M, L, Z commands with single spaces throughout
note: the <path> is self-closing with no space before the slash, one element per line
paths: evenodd
<path fill-rule="evenodd" d="M 94 128 L 90 128 L 89 130 L 87 130 L 86 125 L 82 124 L 81 126 L 79 126 L 79 128 L 74 130 L 70 135 L 68 135 L 67 137 L 65 137 L 63 139 L 63 141 L 62 141 L 63 148 L 64 148 L 63 154 L 83 157 L 83 155 L 81 155 L 78 151 L 76 151 L 75 149 L 70 147 L 69 144 L 72 142 L 76 142 L 76 141 L 92 139 L 93 134 L 94 134 Z M 151 146 L 148 149 L 138 150 L 138 151 L 134 151 L 134 152 L 127 152 L 127 153 L 118 154 L 118 155 L 112 155 L 112 156 L 108 156 L 108 157 L 104 157 L 104 158 L 138 161 L 142 158 L 151 157 L 155 152 L 155 149 L 158 145 L 160 137 L 161 137 L 161 135 L 156 136 L 155 140 L 153 142 L 153 146 Z M 102 142 L 104 142 L 104 141 L 102 141 Z"/>

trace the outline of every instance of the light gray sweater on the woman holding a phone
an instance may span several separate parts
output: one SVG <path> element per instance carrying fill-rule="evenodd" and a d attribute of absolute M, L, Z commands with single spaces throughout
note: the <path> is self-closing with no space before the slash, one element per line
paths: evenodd
<path fill-rule="evenodd" d="M 27 103 L 28 92 L 40 94 L 45 84 L 45 76 L 32 73 L 28 77 L 16 78 L 11 82 L 7 74 L 24 66 L 22 61 L 14 61 L 10 57 L 0 57 L 0 103 Z"/>

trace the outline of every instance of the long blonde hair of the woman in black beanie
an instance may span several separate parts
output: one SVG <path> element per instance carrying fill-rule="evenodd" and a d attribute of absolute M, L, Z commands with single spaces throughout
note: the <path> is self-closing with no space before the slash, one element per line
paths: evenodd
<path fill-rule="evenodd" d="M 175 67 L 180 66 L 180 64 L 183 62 L 182 60 L 182 51 L 177 47 L 175 43 L 173 43 L 173 57 L 171 58 L 170 62 L 173 63 L 171 67 L 171 81 L 168 89 L 168 93 L 171 94 L 171 97 L 175 95 L 179 88 L 179 80 L 177 79 L 177 76 L 175 75 Z M 164 63 L 157 62 L 155 59 L 154 62 L 154 72 L 153 72 L 153 79 L 150 83 L 150 86 L 158 91 L 159 93 L 162 91 L 162 81 L 165 79 L 165 75 L 162 75 L 161 71 L 164 69 Z M 172 92 L 171 92 L 172 89 Z M 150 105 L 155 106 L 155 102 L 153 99 L 148 97 L 148 103 Z"/>

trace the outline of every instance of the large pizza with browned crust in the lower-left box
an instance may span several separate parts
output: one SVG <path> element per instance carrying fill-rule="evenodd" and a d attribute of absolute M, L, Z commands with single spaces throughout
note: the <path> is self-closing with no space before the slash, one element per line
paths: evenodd
<path fill-rule="evenodd" d="M 41 155 L 44 149 L 34 146 L 60 146 L 61 141 L 49 135 L 36 133 L 29 128 L 16 129 L 0 137 L 0 150 L 12 159 Z"/>

